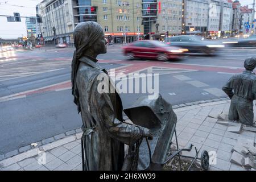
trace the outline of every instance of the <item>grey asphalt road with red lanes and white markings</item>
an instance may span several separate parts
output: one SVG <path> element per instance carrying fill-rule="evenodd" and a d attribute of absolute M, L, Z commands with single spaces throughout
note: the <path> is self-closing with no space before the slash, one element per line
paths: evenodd
<path fill-rule="evenodd" d="M 159 93 L 176 105 L 225 97 L 222 85 L 234 73 L 243 71 L 244 59 L 255 56 L 255 51 L 223 49 L 214 57 L 129 61 L 122 55 L 120 46 L 109 46 L 108 53 L 97 58 L 108 71 L 115 68 L 117 73 L 158 73 Z M 81 126 L 81 116 L 71 94 L 72 55 L 71 48 L 0 55 L 0 154 Z M 126 80 L 127 88 L 130 80 L 133 79 Z M 145 84 L 142 80 L 140 89 Z M 157 87 L 153 84 L 152 89 L 154 86 Z M 153 90 L 158 93 L 157 89 Z M 121 93 L 123 107 L 147 95 L 149 90 L 146 91 Z"/>

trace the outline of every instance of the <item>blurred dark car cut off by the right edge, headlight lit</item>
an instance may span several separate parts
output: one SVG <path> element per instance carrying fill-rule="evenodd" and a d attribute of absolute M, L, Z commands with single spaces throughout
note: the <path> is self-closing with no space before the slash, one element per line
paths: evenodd
<path fill-rule="evenodd" d="M 228 38 L 222 43 L 228 47 L 256 47 L 256 35 L 250 35 L 248 38 Z"/>

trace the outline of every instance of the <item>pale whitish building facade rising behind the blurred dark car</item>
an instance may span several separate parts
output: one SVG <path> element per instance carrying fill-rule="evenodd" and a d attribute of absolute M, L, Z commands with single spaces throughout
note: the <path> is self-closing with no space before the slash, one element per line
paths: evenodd
<path fill-rule="evenodd" d="M 185 31 L 186 34 L 207 34 L 209 1 L 185 1 Z"/>

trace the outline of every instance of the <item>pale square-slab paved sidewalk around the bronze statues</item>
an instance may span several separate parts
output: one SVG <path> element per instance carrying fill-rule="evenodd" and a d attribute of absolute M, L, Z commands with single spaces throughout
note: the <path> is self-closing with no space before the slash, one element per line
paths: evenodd
<path fill-rule="evenodd" d="M 209 117 L 222 111 L 228 113 L 229 105 L 229 100 L 222 100 L 174 109 L 179 146 L 188 147 L 192 143 L 197 150 L 216 152 L 216 163 L 210 166 L 210 170 L 246 170 L 230 162 L 232 148 L 242 139 L 256 142 L 254 132 L 231 133 L 227 131 L 228 126 L 220 125 L 216 118 Z M 81 135 L 81 132 L 76 133 L 2 160 L 0 170 L 81 170 Z M 195 155 L 195 150 L 183 152 L 183 155 Z"/>

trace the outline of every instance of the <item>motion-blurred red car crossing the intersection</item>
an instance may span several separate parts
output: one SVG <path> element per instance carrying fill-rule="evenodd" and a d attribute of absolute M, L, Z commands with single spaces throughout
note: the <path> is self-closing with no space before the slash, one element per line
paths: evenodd
<path fill-rule="evenodd" d="M 123 47 L 123 54 L 129 59 L 139 57 L 157 59 L 159 61 L 180 59 L 183 57 L 185 51 L 187 51 L 187 49 L 168 46 L 167 44 L 161 43 L 157 40 L 135 41 L 128 46 Z"/>

